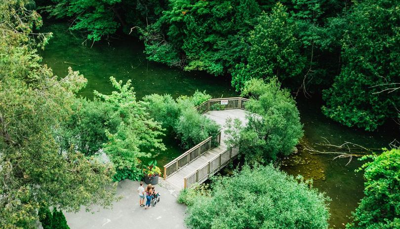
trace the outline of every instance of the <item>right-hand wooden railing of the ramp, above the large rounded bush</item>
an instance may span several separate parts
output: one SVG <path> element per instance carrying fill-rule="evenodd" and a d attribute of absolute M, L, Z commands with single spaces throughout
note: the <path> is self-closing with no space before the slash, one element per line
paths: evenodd
<path fill-rule="evenodd" d="M 226 164 L 228 164 L 229 160 L 236 157 L 238 154 L 239 144 L 219 153 L 208 162 L 200 166 L 196 171 L 187 175 L 184 181 L 184 188 L 188 189 L 196 183 L 204 182 L 218 172 L 221 168 L 223 168 Z"/>

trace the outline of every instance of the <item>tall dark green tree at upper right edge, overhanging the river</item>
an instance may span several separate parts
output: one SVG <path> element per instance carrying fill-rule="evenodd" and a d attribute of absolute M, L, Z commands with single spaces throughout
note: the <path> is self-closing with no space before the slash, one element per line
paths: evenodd
<path fill-rule="evenodd" d="M 365 130 L 397 117 L 400 90 L 392 89 L 400 82 L 400 70 L 394 67 L 400 65 L 399 4 L 365 0 L 354 6 L 342 47 L 345 64 L 323 93 L 326 116 Z"/>

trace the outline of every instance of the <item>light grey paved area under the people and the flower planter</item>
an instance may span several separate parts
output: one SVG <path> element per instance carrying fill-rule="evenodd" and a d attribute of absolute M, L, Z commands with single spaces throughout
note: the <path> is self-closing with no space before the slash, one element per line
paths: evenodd
<path fill-rule="evenodd" d="M 170 191 L 156 185 L 156 191 L 161 194 L 160 202 L 144 209 L 139 207 L 138 187 L 139 182 L 121 181 L 117 195 L 123 195 L 123 198 L 114 202 L 113 209 L 101 208 L 96 212 L 98 208 L 94 208 L 92 214 L 82 208 L 76 214 L 64 213 L 68 226 L 71 229 L 187 229 L 183 223 L 186 205 L 178 203 Z"/>

